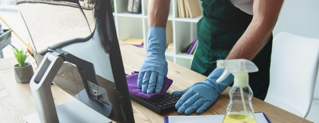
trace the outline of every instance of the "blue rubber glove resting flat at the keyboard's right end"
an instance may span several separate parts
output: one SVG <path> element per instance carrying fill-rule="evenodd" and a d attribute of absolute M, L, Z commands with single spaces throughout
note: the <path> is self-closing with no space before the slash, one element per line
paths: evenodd
<path fill-rule="evenodd" d="M 196 110 L 196 113 L 200 114 L 211 106 L 218 95 L 234 81 L 234 76 L 230 74 L 225 80 L 217 83 L 216 80 L 223 72 L 224 69 L 216 68 L 204 82 L 195 83 L 183 91 L 173 92 L 172 94 L 181 97 L 175 105 L 177 113 L 189 115 Z"/>

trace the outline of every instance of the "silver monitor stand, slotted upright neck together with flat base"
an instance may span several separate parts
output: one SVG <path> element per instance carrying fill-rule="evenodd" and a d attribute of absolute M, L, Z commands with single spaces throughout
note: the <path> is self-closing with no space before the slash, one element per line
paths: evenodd
<path fill-rule="evenodd" d="M 38 113 L 26 116 L 28 123 L 109 123 L 111 120 L 76 100 L 55 106 L 51 83 L 67 57 L 48 52 L 30 81 L 30 90 Z"/>

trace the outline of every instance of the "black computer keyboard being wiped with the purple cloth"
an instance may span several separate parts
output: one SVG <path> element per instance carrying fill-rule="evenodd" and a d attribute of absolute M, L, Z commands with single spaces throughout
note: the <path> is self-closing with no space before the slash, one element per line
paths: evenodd
<path fill-rule="evenodd" d="M 146 108 L 158 114 L 164 113 L 171 109 L 175 109 L 175 104 L 178 101 L 178 99 L 180 99 L 179 97 L 169 92 L 165 92 L 164 95 L 151 100 L 139 98 L 131 94 L 130 94 L 130 98 L 133 101 L 141 104 L 142 106 L 145 106 Z"/>

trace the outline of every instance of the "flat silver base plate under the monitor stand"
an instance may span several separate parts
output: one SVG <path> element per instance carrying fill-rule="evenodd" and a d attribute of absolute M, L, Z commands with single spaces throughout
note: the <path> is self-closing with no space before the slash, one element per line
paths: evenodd
<path fill-rule="evenodd" d="M 79 100 L 56 106 L 59 123 L 110 123 L 112 120 L 94 111 Z M 24 117 L 27 123 L 40 123 L 38 113 Z"/>

